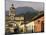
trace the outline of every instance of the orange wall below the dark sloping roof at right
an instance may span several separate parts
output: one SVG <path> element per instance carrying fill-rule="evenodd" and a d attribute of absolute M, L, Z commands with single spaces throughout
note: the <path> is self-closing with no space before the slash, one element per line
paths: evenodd
<path fill-rule="evenodd" d="M 44 24 L 42 25 L 42 22 L 44 22 L 44 16 L 34 21 L 34 32 L 41 32 L 41 27 L 44 26 Z"/>

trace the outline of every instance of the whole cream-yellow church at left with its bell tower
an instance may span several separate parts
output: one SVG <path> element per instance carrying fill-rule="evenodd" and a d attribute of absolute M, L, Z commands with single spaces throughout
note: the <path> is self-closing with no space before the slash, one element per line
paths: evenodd
<path fill-rule="evenodd" d="M 21 24 L 24 23 L 24 16 L 17 16 L 14 5 L 10 7 L 9 15 L 5 17 L 5 28 L 6 32 L 14 33 L 15 29 L 20 28 Z"/>

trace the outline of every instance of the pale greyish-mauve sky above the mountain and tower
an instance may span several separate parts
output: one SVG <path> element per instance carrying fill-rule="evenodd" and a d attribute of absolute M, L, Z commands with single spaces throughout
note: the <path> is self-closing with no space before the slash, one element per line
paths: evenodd
<path fill-rule="evenodd" d="M 42 2 L 26 2 L 26 1 L 14 1 L 14 0 L 5 0 L 5 9 L 9 10 L 11 4 L 14 4 L 14 7 L 32 7 L 38 11 L 44 10 L 44 3 Z"/>

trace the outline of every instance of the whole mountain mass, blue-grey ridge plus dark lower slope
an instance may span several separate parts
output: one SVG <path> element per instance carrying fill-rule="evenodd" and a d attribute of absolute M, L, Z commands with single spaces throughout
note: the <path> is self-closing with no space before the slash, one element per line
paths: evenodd
<path fill-rule="evenodd" d="M 19 16 L 23 15 L 25 21 L 31 21 L 34 16 L 36 16 L 39 12 L 33 9 L 32 7 L 19 7 L 16 8 L 16 13 Z"/>

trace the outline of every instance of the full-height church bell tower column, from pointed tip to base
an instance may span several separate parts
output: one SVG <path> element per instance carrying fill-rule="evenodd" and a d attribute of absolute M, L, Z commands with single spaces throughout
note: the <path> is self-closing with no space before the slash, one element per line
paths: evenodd
<path fill-rule="evenodd" d="M 9 10 L 9 31 L 10 32 L 14 32 L 14 25 L 15 25 L 15 22 L 14 22 L 14 18 L 15 18 L 15 12 L 16 12 L 16 9 L 14 8 L 14 5 L 12 4 L 11 7 L 10 7 L 10 10 Z"/>

